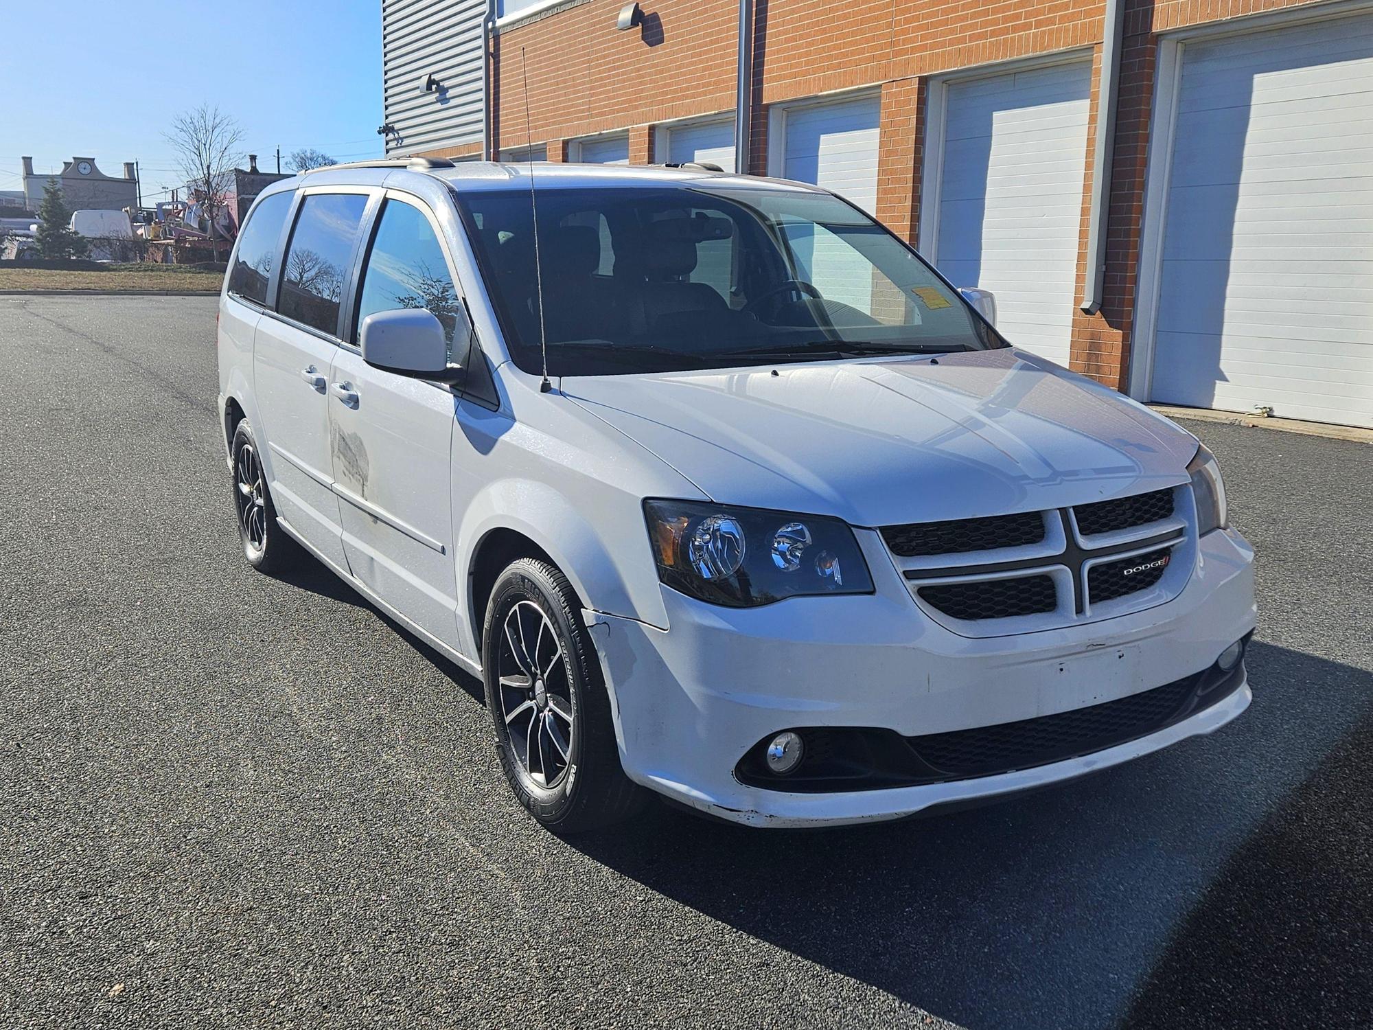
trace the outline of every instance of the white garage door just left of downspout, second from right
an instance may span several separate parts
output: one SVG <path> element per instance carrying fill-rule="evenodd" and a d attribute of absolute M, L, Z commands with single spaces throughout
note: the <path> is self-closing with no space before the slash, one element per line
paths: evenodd
<path fill-rule="evenodd" d="M 997 328 L 1068 364 L 1092 65 L 953 82 L 945 103 L 935 265 L 997 295 Z"/>

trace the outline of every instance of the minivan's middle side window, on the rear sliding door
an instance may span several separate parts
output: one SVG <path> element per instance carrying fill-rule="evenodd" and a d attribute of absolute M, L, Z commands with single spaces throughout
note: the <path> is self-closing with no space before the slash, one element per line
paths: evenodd
<path fill-rule="evenodd" d="M 281 269 L 281 314 L 323 332 L 338 331 L 343 276 L 365 207 L 362 194 L 305 198 Z"/>

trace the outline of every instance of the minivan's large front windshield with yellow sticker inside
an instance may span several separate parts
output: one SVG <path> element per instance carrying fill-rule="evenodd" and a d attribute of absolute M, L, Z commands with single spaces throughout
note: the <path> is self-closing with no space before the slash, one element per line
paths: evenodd
<path fill-rule="evenodd" d="M 835 196 L 748 187 L 457 195 L 511 356 L 615 375 L 1005 342 L 914 251 Z M 541 305 L 542 301 L 542 305 Z"/>

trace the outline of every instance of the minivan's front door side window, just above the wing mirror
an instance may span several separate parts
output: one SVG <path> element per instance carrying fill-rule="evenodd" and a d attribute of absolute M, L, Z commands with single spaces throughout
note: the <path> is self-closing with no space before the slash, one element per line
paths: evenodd
<path fill-rule="evenodd" d="M 443 325 L 448 357 L 453 360 L 453 330 L 461 301 L 448 272 L 443 249 L 428 218 L 401 201 L 387 201 L 376 227 L 376 239 L 362 272 L 357 324 L 376 312 L 427 308 Z M 457 341 L 460 346 L 467 341 Z M 463 357 L 460 353 L 459 357 Z"/>

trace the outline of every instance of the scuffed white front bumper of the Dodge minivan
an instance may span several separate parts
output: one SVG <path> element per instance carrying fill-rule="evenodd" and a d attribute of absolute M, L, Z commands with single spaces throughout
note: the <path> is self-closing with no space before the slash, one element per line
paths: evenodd
<path fill-rule="evenodd" d="M 875 536 L 875 534 L 873 534 Z M 1072 779 L 1225 725 L 1251 700 L 1241 681 L 1166 728 L 1034 768 L 892 788 L 789 792 L 741 783 L 740 759 L 794 726 L 946 733 L 1115 702 L 1211 666 L 1255 625 L 1254 552 L 1233 530 L 1199 541 L 1166 604 L 1019 636 L 964 637 L 924 617 L 880 544 L 865 542 L 876 593 L 719 608 L 665 589 L 669 630 L 585 613 L 630 779 L 737 823 L 805 827 L 910 816 Z"/>

